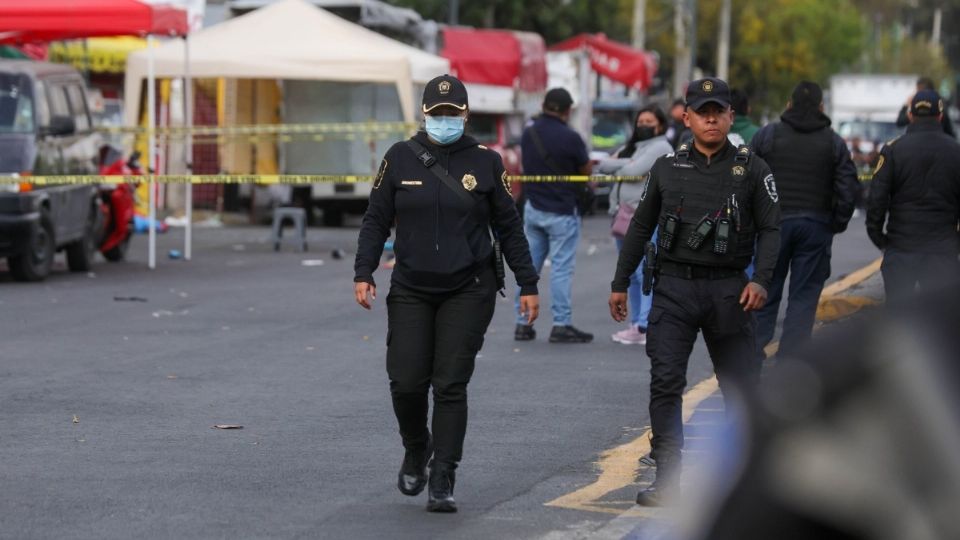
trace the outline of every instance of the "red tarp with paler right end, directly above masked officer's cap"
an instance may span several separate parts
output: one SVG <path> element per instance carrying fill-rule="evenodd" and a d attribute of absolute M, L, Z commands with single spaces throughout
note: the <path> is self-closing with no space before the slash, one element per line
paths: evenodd
<path fill-rule="evenodd" d="M 547 86 L 546 47 L 537 34 L 447 27 L 440 56 L 463 82 L 527 92 Z"/>

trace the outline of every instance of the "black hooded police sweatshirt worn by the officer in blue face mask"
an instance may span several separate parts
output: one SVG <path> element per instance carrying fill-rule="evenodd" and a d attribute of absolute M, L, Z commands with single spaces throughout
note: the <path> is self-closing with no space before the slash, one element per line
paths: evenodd
<path fill-rule="evenodd" d="M 470 136 L 446 146 L 423 145 L 474 201 L 467 205 L 417 158 L 406 142 L 394 144 L 380 163 L 363 216 L 354 281 L 374 284 L 383 243 L 396 223 L 391 280 L 425 292 L 456 290 L 493 264 L 491 227 L 520 294 L 537 293 L 537 272 L 523 234 L 500 155 Z M 459 186 L 458 186 L 459 187 Z"/>

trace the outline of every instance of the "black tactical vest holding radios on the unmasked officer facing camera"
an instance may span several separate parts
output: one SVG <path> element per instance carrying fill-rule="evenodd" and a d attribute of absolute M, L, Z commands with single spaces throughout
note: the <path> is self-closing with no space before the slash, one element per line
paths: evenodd
<path fill-rule="evenodd" d="M 746 268 L 753 258 L 756 226 L 753 222 L 751 201 L 755 185 L 762 179 L 752 179 L 757 174 L 751 167 L 751 152 L 747 146 L 740 146 L 736 152 L 701 168 L 690 160 L 689 143 L 681 145 L 674 155 L 669 173 L 660 180 L 663 200 L 660 210 L 659 226 L 663 230 L 666 215 L 679 214 L 681 223 L 673 249 L 661 252 L 663 260 L 715 266 L 721 268 Z M 682 203 L 681 203 L 682 197 Z M 713 252 L 714 236 L 710 236 L 698 250 L 687 246 L 687 240 L 696 230 L 701 218 L 709 215 L 721 217 L 727 215 L 725 206 L 739 215 L 739 230 L 735 226 L 730 237 L 730 247 L 725 255 Z M 716 229 L 714 229 L 714 234 Z"/>

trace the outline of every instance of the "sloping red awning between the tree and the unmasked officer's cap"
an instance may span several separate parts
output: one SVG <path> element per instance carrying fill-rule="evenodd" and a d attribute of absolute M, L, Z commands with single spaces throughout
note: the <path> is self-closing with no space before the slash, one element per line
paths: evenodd
<path fill-rule="evenodd" d="M 639 49 L 609 41 L 603 34 L 580 34 L 550 47 L 551 51 L 586 49 L 597 73 L 638 90 L 650 88 L 657 71 L 654 57 Z"/>

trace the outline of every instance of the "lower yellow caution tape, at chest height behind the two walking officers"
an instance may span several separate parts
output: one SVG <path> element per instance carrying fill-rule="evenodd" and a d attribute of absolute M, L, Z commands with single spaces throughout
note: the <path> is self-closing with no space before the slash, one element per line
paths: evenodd
<path fill-rule="evenodd" d="M 30 183 L 35 186 L 64 184 L 120 184 L 157 182 L 161 184 L 316 184 L 333 182 L 358 184 L 372 182 L 373 175 L 349 174 L 157 174 L 157 175 L 59 175 L 59 176 L 0 176 L 0 184 Z M 509 182 L 639 182 L 645 176 L 508 176 Z"/>

